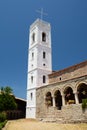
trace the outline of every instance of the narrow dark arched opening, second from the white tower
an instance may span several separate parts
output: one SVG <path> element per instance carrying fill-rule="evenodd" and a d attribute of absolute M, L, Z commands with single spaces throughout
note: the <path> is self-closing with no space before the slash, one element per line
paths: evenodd
<path fill-rule="evenodd" d="M 55 106 L 57 107 L 58 110 L 61 110 L 62 96 L 61 96 L 61 92 L 58 89 L 55 91 L 54 97 L 55 97 Z"/>

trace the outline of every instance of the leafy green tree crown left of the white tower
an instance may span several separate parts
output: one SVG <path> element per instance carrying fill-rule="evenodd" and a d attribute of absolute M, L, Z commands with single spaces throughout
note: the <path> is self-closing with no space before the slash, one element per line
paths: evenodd
<path fill-rule="evenodd" d="M 0 111 L 14 110 L 17 108 L 15 97 L 10 87 L 1 87 Z"/>

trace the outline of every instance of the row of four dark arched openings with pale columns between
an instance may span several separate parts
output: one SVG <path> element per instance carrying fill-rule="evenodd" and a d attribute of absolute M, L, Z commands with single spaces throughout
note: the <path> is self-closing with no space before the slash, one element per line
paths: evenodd
<path fill-rule="evenodd" d="M 67 104 L 82 103 L 82 99 L 87 98 L 87 84 L 81 83 L 77 86 L 76 91 L 71 86 L 67 86 L 64 91 L 48 91 L 45 95 L 45 104 L 48 107 L 56 107 L 58 110 Z"/>

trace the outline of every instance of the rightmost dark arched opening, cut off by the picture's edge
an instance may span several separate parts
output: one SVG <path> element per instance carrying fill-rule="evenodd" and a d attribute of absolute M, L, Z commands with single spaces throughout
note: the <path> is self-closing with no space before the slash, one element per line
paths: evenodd
<path fill-rule="evenodd" d="M 87 84 L 84 82 L 81 82 L 77 87 L 77 94 L 79 103 L 82 103 L 82 99 L 87 98 Z"/>

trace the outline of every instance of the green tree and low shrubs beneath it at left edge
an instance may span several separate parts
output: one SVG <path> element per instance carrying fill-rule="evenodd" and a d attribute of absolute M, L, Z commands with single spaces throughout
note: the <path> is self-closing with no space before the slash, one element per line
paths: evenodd
<path fill-rule="evenodd" d="M 7 87 L 0 88 L 0 130 L 5 126 L 6 111 L 14 110 L 17 108 L 15 97 L 12 93 L 12 89 Z"/>

